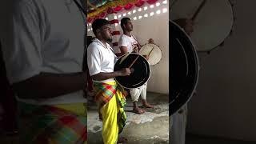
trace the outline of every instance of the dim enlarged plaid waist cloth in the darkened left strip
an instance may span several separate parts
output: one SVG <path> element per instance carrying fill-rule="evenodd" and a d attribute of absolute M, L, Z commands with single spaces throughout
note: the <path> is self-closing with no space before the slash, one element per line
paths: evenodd
<path fill-rule="evenodd" d="M 35 106 L 19 102 L 18 108 L 21 143 L 86 143 L 86 103 Z"/>

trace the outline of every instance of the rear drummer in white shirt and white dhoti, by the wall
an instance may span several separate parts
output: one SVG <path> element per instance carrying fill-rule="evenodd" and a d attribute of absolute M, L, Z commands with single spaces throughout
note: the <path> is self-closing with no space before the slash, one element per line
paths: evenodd
<path fill-rule="evenodd" d="M 118 41 L 118 46 L 120 48 L 121 54 L 127 54 L 127 53 L 138 53 L 140 45 L 136 38 L 131 33 L 133 30 L 133 24 L 130 20 L 130 18 L 122 18 L 121 20 L 121 27 L 123 30 L 122 36 L 119 38 Z M 152 42 L 152 39 L 150 38 L 150 42 Z M 148 57 L 145 55 L 146 59 Z M 154 106 L 150 105 L 146 101 L 146 84 L 145 83 L 143 86 L 135 88 L 135 89 L 130 89 L 130 96 L 132 98 L 133 104 L 134 104 L 134 113 L 136 114 L 143 114 L 145 110 L 142 110 L 141 108 L 138 107 L 138 98 L 140 95 L 142 95 L 142 104 L 146 108 L 154 108 Z"/>

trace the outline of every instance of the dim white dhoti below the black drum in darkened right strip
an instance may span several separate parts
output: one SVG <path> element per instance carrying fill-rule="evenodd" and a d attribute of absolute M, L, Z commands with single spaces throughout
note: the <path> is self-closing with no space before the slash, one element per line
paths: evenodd
<path fill-rule="evenodd" d="M 170 118 L 170 143 L 185 144 L 187 105 L 182 106 Z"/>

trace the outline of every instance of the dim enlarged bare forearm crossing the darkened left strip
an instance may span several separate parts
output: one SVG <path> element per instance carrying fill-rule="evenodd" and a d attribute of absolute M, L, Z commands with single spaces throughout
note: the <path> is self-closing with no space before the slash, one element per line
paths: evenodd
<path fill-rule="evenodd" d="M 13 84 L 19 98 L 54 98 L 86 89 L 86 72 L 72 74 L 41 73 Z"/>

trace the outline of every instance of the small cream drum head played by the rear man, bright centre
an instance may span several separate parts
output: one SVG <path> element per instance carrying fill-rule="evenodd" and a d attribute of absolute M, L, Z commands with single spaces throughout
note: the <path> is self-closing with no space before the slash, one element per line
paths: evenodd
<path fill-rule="evenodd" d="M 148 62 L 150 63 L 150 66 L 154 66 L 160 62 L 162 58 L 162 51 L 157 45 L 148 43 L 144 46 L 142 46 L 141 50 L 139 50 L 139 54 L 141 55 L 149 55 Z"/>

